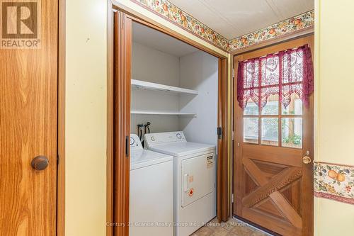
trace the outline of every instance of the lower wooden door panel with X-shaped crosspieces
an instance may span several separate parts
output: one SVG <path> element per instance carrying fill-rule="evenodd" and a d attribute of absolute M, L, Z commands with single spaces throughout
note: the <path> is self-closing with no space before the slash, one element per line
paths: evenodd
<path fill-rule="evenodd" d="M 301 155 L 301 150 L 244 144 L 241 159 L 244 218 L 267 225 L 268 229 L 282 235 L 301 235 L 298 197 L 302 179 Z M 267 223 L 265 218 L 268 218 Z M 271 223 L 272 220 L 276 224 Z"/>

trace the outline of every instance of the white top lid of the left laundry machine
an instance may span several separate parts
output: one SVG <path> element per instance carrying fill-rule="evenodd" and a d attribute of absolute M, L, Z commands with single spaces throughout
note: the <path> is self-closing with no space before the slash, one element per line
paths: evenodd
<path fill-rule="evenodd" d="M 131 150 L 130 152 L 130 170 L 142 167 L 148 167 L 153 164 L 171 161 L 172 157 L 159 152 L 150 150 Z"/>

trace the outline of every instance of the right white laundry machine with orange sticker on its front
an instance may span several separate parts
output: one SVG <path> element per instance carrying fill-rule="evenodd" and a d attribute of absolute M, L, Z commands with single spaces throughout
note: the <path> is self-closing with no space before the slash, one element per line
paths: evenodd
<path fill-rule="evenodd" d="M 216 216 L 215 146 L 180 132 L 144 136 L 148 150 L 173 156 L 174 236 L 188 236 Z"/>

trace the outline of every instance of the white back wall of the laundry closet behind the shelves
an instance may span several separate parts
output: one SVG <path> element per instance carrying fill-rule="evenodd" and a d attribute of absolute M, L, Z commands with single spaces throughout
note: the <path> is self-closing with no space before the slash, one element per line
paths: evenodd
<path fill-rule="evenodd" d="M 151 47 L 133 42 L 132 44 L 132 79 L 145 82 L 179 85 L 179 58 Z M 132 111 L 178 111 L 179 96 L 161 91 L 132 89 Z M 178 116 L 131 115 L 131 133 L 137 134 L 137 124 L 152 123 L 152 132 L 178 130 Z"/>

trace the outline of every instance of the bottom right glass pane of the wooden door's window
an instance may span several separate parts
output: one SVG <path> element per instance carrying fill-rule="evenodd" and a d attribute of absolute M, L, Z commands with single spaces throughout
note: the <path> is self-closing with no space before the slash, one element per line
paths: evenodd
<path fill-rule="evenodd" d="M 282 118 L 282 147 L 302 148 L 302 118 Z"/>

